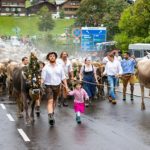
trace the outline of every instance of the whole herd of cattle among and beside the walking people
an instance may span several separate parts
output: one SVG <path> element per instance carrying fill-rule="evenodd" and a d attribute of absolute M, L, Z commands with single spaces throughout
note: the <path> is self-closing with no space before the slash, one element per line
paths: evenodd
<path fill-rule="evenodd" d="M 76 68 L 76 78 L 78 78 L 78 71 L 81 67 L 80 62 L 73 62 L 74 69 Z M 104 71 L 104 65 L 99 62 L 93 62 L 93 65 L 97 68 L 97 76 L 99 84 L 98 96 L 104 96 L 104 77 L 102 73 Z M 23 111 L 25 111 L 25 120 L 27 124 L 31 124 L 34 121 L 34 108 L 36 100 L 41 97 L 42 89 L 37 92 L 30 91 L 27 85 L 27 78 L 23 72 L 27 69 L 27 66 L 22 67 L 21 64 L 15 61 L 3 61 L 0 62 L 0 93 L 7 91 L 10 97 L 14 97 L 17 102 L 17 115 L 23 117 Z M 139 79 L 142 95 L 142 109 L 145 109 L 144 104 L 144 87 L 150 88 L 150 59 L 143 59 L 137 63 L 136 75 Z M 31 106 L 31 113 L 28 114 L 29 101 Z"/>

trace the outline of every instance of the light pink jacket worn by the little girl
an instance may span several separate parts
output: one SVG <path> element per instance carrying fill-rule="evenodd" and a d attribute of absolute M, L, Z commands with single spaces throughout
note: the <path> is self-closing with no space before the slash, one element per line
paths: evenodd
<path fill-rule="evenodd" d="M 84 100 L 89 99 L 87 92 L 83 88 L 81 88 L 80 90 L 74 89 L 73 91 L 69 92 L 69 95 L 74 96 L 75 103 L 84 103 Z"/>

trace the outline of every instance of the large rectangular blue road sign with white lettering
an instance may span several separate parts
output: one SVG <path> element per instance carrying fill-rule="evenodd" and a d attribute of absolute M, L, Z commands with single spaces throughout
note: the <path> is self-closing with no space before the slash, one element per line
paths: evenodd
<path fill-rule="evenodd" d="M 106 42 L 105 27 L 83 27 L 81 36 L 82 51 L 96 51 L 96 44 Z"/>

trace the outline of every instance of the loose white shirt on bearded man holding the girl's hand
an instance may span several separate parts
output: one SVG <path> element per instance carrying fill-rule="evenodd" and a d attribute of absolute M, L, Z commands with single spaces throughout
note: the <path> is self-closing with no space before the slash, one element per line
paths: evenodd
<path fill-rule="evenodd" d="M 56 64 L 53 67 L 48 63 L 42 69 L 42 79 L 46 85 L 59 85 L 66 76 L 61 65 Z"/>

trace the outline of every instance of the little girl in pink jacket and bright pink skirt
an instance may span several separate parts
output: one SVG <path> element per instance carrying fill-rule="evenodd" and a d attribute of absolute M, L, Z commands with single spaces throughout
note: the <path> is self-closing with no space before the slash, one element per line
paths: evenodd
<path fill-rule="evenodd" d="M 69 95 L 74 96 L 74 110 L 76 113 L 76 121 L 78 124 L 81 123 L 80 114 L 84 113 L 85 100 L 89 100 L 89 96 L 86 91 L 82 88 L 81 82 L 76 82 L 74 85 L 75 89 L 69 92 Z"/>

